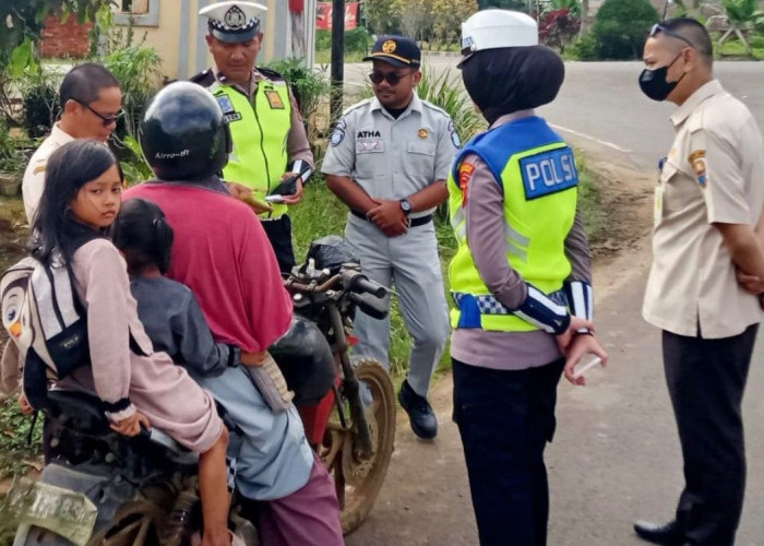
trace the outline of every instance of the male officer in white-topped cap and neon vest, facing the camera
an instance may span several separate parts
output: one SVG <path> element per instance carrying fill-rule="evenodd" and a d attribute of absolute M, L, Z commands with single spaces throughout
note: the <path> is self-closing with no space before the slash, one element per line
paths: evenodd
<path fill-rule="evenodd" d="M 313 169 L 313 155 L 298 105 L 287 82 L 273 70 L 255 67 L 267 8 L 228 1 L 207 5 L 206 36 L 215 61 L 193 78 L 215 95 L 230 123 L 234 152 L 223 170 L 231 193 L 248 200 L 263 223 L 278 266 L 295 265 L 287 205 L 302 200 L 302 185 Z M 283 185 L 282 185 L 283 182 Z"/>

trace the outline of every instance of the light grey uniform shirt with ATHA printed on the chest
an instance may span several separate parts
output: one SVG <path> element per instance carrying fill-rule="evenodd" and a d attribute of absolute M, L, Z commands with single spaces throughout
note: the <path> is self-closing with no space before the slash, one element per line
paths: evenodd
<path fill-rule="evenodd" d="M 459 145 L 449 115 L 416 93 L 397 119 L 373 97 L 338 121 L 321 170 L 351 178 L 372 198 L 398 200 L 446 180 Z"/>

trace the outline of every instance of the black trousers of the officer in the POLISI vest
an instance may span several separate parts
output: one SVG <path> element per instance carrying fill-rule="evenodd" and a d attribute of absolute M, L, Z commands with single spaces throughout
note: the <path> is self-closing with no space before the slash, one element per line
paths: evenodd
<path fill-rule="evenodd" d="M 549 486 L 544 450 L 554 435 L 564 360 L 503 371 L 453 361 L 458 426 L 481 546 L 545 546 Z"/>

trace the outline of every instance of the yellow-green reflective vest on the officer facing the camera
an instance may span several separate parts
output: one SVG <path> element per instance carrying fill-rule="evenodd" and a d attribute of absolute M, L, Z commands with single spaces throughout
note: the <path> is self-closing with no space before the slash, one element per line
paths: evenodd
<path fill-rule="evenodd" d="M 291 129 L 289 88 L 283 80 L 261 80 L 252 103 L 234 85 L 216 82 L 210 91 L 230 123 L 234 151 L 223 178 L 252 189 L 263 201 L 282 179 L 289 159 L 287 138 Z M 272 203 L 273 212 L 261 217 L 278 218 L 287 205 Z"/>

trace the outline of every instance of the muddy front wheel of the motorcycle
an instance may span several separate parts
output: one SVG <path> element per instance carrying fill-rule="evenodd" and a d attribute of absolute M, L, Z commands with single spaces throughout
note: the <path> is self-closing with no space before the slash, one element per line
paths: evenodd
<path fill-rule="evenodd" d="M 387 474 L 395 441 L 395 389 L 387 371 L 373 359 L 354 365 L 356 377 L 371 391 L 371 404 L 366 408 L 371 430 L 373 454 L 360 460 L 353 450 L 353 424 L 343 428 L 335 410 L 324 442 L 322 460 L 334 476 L 337 499 L 342 510 L 343 532 L 358 529 L 374 506 Z M 345 403 L 345 406 L 347 404 Z M 349 412 L 346 413 L 349 419 Z"/>

